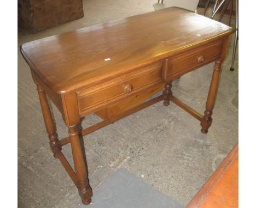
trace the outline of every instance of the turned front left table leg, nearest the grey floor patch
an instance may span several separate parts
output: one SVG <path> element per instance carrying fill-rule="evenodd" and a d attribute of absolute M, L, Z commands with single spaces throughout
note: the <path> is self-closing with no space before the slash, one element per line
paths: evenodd
<path fill-rule="evenodd" d="M 88 181 L 88 175 L 86 172 L 84 156 L 79 140 L 79 132 L 77 125 L 69 126 L 68 134 L 71 139 L 74 168 L 78 179 L 78 192 L 80 197 L 82 198 L 83 204 L 90 204 L 92 190 Z"/>

